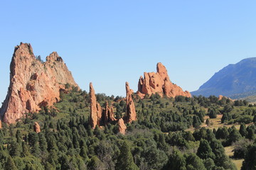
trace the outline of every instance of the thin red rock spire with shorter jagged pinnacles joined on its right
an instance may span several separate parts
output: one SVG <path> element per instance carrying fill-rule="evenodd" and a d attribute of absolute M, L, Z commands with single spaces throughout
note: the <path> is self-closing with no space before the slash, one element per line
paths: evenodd
<path fill-rule="evenodd" d="M 113 108 L 109 106 L 106 101 L 105 108 L 100 106 L 95 96 L 95 90 L 93 89 L 92 83 L 90 83 L 90 125 L 95 128 L 96 125 L 102 126 L 115 121 Z"/>

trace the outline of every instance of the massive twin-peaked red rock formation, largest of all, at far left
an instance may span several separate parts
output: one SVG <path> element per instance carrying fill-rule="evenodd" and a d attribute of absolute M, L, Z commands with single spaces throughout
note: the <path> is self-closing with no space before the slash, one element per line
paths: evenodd
<path fill-rule="evenodd" d="M 15 123 L 24 113 L 39 111 L 40 106 L 53 106 L 65 84 L 78 86 L 57 52 L 41 62 L 27 43 L 15 47 L 10 69 L 10 85 L 0 111 L 6 123 Z"/>

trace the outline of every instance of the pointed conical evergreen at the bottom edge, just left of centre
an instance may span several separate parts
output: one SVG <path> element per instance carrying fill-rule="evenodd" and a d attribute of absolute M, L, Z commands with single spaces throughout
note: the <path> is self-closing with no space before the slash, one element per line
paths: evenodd
<path fill-rule="evenodd" d="M 129 145 L 126 141 L 123 142 L 120 148 L 120 154 L 117 158 L 117 170 L 134 170 L 139 169 L 136 164 L 134 164 L 134 160 L 132 158 L 132 153 L 129 149 Z"/>

